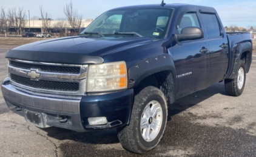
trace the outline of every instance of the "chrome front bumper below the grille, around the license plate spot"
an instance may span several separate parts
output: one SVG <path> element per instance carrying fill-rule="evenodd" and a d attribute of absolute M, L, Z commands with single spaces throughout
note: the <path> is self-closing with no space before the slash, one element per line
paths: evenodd
<path fill-rule="evenodd" d="M 2 83 L 2 95 L 13 112 L 25 117 L 25 110 L 40 112 L 44 116 L 44 127 L 56 126 L 78 132 L 84 132 L 79 113 L 79 103 L 82 96 L 48 95 L 30 92 L 10 84 L 8 78 Z M 66 122 L 59 119 L 67 117 Z"/>

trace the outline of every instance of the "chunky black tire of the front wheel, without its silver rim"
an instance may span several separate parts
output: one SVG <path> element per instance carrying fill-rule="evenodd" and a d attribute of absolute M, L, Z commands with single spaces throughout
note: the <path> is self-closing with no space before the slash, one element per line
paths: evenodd
<path fill-rule="evenodd" d="M 141 117 L 144 109 L 151 101 L 158 101 L 163 112 L 162 122 L 159 132 L 152 141 L 146 141 L 141 135 Z M 150 105 L 151 106 L 151 105 Z M 153 120 L 152 120 L 153 121 Z M 130 123 L 125 127 L 118 129 L 118 138 L 124 149 L 134 153 L 146 153 L 157 146 L 163 138 L 164 129 L 167 122 L 167 103 L 163 92 L 156 87 L 149 86 L 135 95 Z M 151 123 L 150 123 L 151 124 Z M 151 133 L 151 131 L 150 131 Z"/>

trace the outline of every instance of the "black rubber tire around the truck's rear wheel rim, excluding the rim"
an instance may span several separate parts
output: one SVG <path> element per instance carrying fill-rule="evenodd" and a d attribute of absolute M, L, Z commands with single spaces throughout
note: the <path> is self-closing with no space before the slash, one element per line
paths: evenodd
<path fill-rule="evenodd" d="M 243 79 L 243 86 L 239 88 L 238 87 L 238 79 L 239 79 L 238 72 L 239 72 L 240 68 L 243 68 L 244 79 Z M 239 62 L 239 65 L 238 65 L 238 71 L 237 71 L 237 75 L 235 76 L 235 78 L 234 79 L 225 79 L 225 81 L 224 81 L 225 90 L 226 90 L 227 95 L 240 96 L 241 93 L 243 93 L 245 81 L 246 81 L 246 71 L 245 71 L 244 61 L 241 59 Z"/>

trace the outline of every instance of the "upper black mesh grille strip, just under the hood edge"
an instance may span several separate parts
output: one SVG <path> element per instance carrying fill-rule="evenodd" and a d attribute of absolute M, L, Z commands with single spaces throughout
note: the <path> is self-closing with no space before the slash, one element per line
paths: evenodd
<path fill-rule="evenodd" d="M 10 65 L 18 68 L 38 68 L 43 72 L 55 72 L 55 73 L 80 73 L 80 67 L 60 67 L 60 66 L 51 66 L 51 65 L 37 65 L 37 64 L 29 64 L 24 62 L 15 62 L 10 61 Z"/>

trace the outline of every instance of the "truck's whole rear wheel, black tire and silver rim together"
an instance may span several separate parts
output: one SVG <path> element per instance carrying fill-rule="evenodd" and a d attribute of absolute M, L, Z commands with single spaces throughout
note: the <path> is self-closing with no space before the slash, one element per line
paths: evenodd
<path fill-rule="evenodd" d="M 237 76 L 234 79 L 225 79 L 225 90 L 227 95 L 240 96 L 243 93 L 244 85 L 246 81 L 246 72 L 244 67 L 244 61 L 240 60 L 238 65 Z"/>

